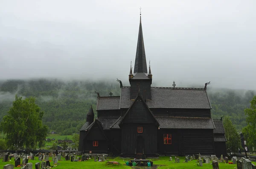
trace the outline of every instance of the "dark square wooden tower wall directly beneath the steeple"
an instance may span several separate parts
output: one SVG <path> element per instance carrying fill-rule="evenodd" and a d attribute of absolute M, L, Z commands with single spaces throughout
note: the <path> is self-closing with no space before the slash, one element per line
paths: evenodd
<path fill-rule="evenodd" d="M 134 79 L 131 80 L 130 99 L 135 99 L 139 93 L 143 99 L 151 99 L 151 80 L 150 79 Z"/>

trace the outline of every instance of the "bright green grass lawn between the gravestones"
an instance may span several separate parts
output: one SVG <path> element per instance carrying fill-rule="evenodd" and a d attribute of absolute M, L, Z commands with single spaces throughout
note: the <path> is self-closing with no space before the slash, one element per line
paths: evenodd
<path fill-rule="evenodd" d="M 31 161 L 30 163 L 33 163 L 33 169 L 35 169 L 35 163 L 39 162 L 38 158 L 37 160 Z M 125 166 L 124 158 L 108 158 L 108 161 L 117 161 L 120 163 L 120 165 L 108 165 L 107 162 L 94 162 L 93 159 L 90 159 L 88 161 L 78 161 L 78 162 L 71 162 L 71 161 L 64 161 L 64 158 L 61 158 L 62 161 L 58 161 L 58 165 L 56 169 L 102 169 L 102 168 L 108 168 L 108 169 L 131 169 L 131 166 Z M 49 158 L 49 160 L 52 160 L 52 158 Z M 188 163 L 183 163 L 184 157 L 180 157 L 180 163 L 174 163 L 173 161 L 169 161 L 169 157 L 160 157 L 158 159 L 151 159 L 153 161 L 153 166 L 157 165 L 157 169 L 198 169 L 199 166 L 197 166 L 197 160 L 189 161 Z M 128 159 L 125 159 L 125 161 L 128 161 Z M 0 169 L 3 169 L 3 166 L 6 164 L 13 164 L 14 165 L 14 159 L 12 158 L 12 161 L 9 162 L 2 162 L 0 161 Z M 254 163 L 254 162 L 253 162 Z M 50 162 L 51 165 L 53 165 L 53 162 Z M 256 163 L 255 163 L 256 164 Z M 234 169 L 236 167 L 236 164 L 227 164 L 227 163 L 219 163 L 220 169 Z M 19 169 L 21 167 L 17 167 Z M 145 168 L 150 169 L 148 167 L 136 167 L 136 168 Z M 153 168 L 153 167 L 151 167 Z M 202 167 L 199 167 L 199 169 L 212 169 L 211 164 L 203 163 Z"/>

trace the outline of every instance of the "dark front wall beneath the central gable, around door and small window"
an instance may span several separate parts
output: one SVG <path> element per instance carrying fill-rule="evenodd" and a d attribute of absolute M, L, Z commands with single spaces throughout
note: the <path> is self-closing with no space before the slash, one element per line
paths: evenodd
<path fill-rule="evenodd" d="M 137 127 L 143 127 L 138 133 Z M 122 153 L 134 154 L 137 150 L 137 138 L 143 137 L 145 154 L 157 153 L 157 127 L 155 124 L 123 124 L 122 125 Z"/>

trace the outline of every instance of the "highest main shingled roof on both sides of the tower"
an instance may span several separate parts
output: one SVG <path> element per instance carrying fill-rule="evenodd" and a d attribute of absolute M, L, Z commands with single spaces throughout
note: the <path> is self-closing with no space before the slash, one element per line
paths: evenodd
<path fill-rule="evenodd" d="M 151 98 L 146 102 L 149 108 L 211 108 L 203 88 L 151 87 Z M 130 87 L 122 87 L 120 108 L 129 108 L 132 103 Z"/>

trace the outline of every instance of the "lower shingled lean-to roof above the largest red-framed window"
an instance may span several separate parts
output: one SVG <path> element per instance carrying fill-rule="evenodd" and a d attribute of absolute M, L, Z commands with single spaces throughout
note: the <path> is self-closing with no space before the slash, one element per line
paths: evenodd
<path fill-rule="evenodd" d="M 160 129 L 215 129 L 212 118 L 156 116 L 156 119 Z"/>

